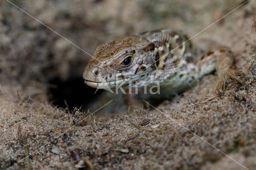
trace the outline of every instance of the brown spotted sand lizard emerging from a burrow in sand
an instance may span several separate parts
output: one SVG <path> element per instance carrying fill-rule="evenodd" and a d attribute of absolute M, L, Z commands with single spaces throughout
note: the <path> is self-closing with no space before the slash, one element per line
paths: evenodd
<path fill-rule="evenodd" d="M 236 76 L 242 72 L 231 68 L 234 59 L 230 49 L 220 47 L 198 59 L 187 40 L 181 32 L 163 29 L 99 45 L 84 69 L 85 83 L 94 88 L 113 88 L 120 83 L 128 87 L 129 82 L 150 87 L 158 81 L 160 94 L 153 97 L 168 98 L 216 70 L 218 81 L 214 90 L 218 95 L 224 95 L 224 77 L 246 85 Z"/>

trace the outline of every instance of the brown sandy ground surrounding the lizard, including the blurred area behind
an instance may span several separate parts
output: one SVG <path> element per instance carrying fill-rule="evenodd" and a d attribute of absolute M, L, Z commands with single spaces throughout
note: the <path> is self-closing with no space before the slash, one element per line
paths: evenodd
<path fill-rule="evenodd" d="M 192 37 L 245 1 L 11 2 L 93 54 L 100 43 L 146 30 Z M 0 169 L 256 169 L 254 0 L 192 39 L 199 54 L 230 47 L 250 87 L 228 79 L 225 97 L 216 97 L 213 73 L 160 103 L 162 113 L 97 111 L 110 100 L 83 84 L 90 56 L 9 2 L 0 6 Z"/>

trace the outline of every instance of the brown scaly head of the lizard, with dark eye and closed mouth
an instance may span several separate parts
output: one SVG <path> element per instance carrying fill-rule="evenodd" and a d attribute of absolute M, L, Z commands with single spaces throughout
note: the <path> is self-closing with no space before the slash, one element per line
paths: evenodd
<path fill-rule="evenodd" d="M 126 36 L 99 45 L 83 78 L 94 88 L 128 86 L 146 79 L 155 69 L 154 61 L 153 43 L 140 36 Z"/>

